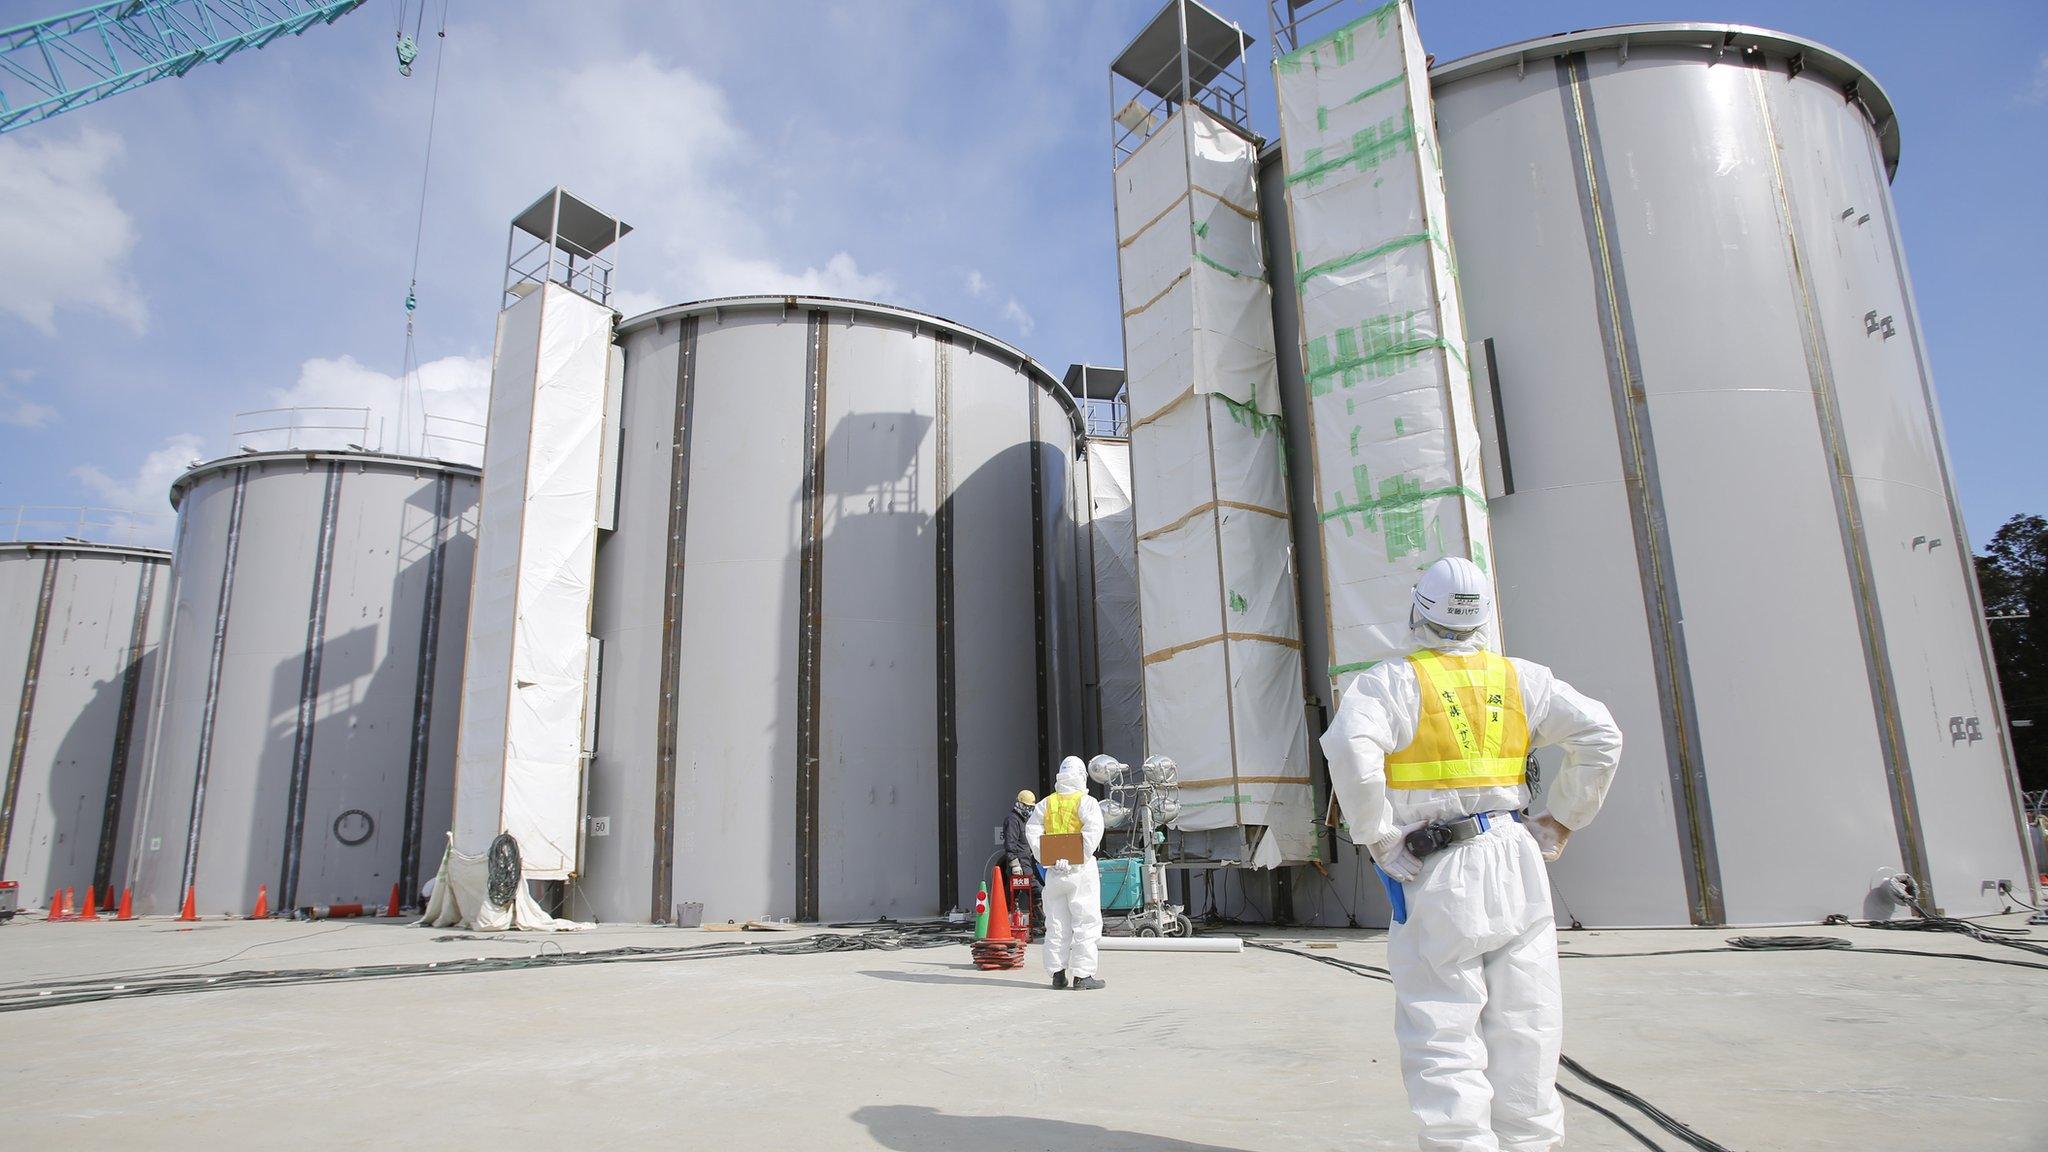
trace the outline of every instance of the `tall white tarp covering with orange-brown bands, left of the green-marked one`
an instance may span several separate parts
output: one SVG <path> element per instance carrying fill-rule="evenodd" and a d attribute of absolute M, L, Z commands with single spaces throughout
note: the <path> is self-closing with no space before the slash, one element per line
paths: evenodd
<path fill-rule="evenodd" d="M 1182 830 L 1315 853 L 1257 150 L 1178 109 L 1116 170 L 1147 750 Z M 1280 863 L 1272 851 L 1262 863 Z"/>

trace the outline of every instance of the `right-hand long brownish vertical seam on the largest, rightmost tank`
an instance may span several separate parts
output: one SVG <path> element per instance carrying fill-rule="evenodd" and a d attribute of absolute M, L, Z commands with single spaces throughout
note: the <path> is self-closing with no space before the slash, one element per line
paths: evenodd
<path fill-rule="evenodd" d="M 1892 678 L 1890 650 L 1884 640 L 1884 609 L 1878 603 L 1876 570 L 1870 558 L 1870 537 L 1864 531 L 1862 498 L 1855 492 L 1855 469 L 1849 461 L 1849 443 L 1841 428 L 1841 398 L 1835 392 L 1835 369 L 1827 353 L 1827 330 L 1815 310 L 1812 285 L 1806 277 L 1806 246 L 1798 238 L 1798 221 L 1792 215 L 1792 189 L 1786 180 L 1780 156 L 1778 119 L 1772 115 L 1769 92 L 1763 88 L 1763 70 L 1749 74 L 1751 92 L 1757 98 L 1757 117 L 1763 123 L 1763 148 L 1772 168 L 1772 199 L 1778 207 L 1778 225 L 1784 232 L 1786 262 L 1790 264 L 1792 291 L 1798 297 L 1800 351 L 1806 357 L 1806 379 L 1812 389 L 1815 418 L 1821 430 L 1821 447 L 1827 453 L 1827 469 L 1835 496 L 1835 519 L 1841 527 L 1841 551 L 1849 570 L 1849 584 L 1855 590 L 1855 627 L 1864 646 L 1864 668 L 1870 678 L 1870 705 L 1878 719 L 1878 744 L 1884 754 L 1884 783 L 1892 797 L 1892 824 L 1898 834 L 1898 855 L 1909 873 L 1921 883 L 1927 908 L 1939 910 L 1933 890 L 1933 875 L 1927 871 L 1927 842 L 1919 822 L 1919 799 L 1913 793 L 1913 763 L 1905 746 L 1905 728 L 1898 717 L 1898 685 Z"/>

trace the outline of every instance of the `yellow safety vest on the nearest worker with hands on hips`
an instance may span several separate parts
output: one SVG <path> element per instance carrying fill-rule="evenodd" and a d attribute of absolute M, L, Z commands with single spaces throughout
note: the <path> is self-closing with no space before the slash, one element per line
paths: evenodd
<path fill-rule="evenodd" d="M 1505 656 L 1409 656 L 1421 717 L 1407 748 L 1386 756 L 1386 787 L 1513 787 L 1528 777 L 1530 719 L 1522 676 Z"/>

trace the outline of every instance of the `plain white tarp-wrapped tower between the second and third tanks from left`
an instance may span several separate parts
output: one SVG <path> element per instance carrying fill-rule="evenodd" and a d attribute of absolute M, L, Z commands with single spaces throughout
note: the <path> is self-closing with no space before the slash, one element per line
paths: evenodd
<path fill-rule="evenodd" d="M 512 832 L 535 879 L 578 863 L 610 342 L 612 310 L 555 283 L 498 316 L 455 840 Z"/>

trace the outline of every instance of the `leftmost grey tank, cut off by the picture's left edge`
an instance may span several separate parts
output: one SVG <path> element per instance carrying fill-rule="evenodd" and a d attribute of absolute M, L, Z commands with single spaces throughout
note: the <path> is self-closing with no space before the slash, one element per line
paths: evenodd
<path fill-rule="evenodd" d="M 0 543 L 0 879 L 25 906 L 119 886 L 170 553 Z"/>

